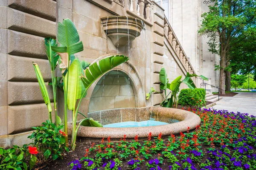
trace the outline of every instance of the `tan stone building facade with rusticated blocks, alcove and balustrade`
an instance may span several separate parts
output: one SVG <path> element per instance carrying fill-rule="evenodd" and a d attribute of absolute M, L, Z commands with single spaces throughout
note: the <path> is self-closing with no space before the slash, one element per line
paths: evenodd
<path fill-rule="evenodd" d="M 112 15 L 139 18 L 146 29 L 135 40 L 117 49 L 101 23 L 102 17 Z M 169 81 L 186 72 L 203 72 L 201 67 L 194 67 L 194 58 L 189 58 L 190 51 L 188 55 L 185 50 L 187 43 L 179 37 L 179 31 L 176 35 L 164 9 L 154 1 L 0 0 L 0 16 L 0 147 L 29 143 L 26 137 L 31 134 L 30 127 L 39 126 L 48 118 L 32 62 L 39 65 L 46 83 L 51 80 L 44 37 L 56 38 L 58 22 L 64 18 L 73 21 L 83 42 L 84 51 L 76 54 L 80 60 L 93 63 L 116 54 L 129 57 L 128 62 L 101 77 L 88 90 L 80 107 L 83 113 L 120 108 L 122 104 L 125 108 L 159 105 L 160 94 L 153 94 L 148 101 L 145 94 L 151 87 L 160 91 L 162 67 L 166 68 Z M 193 80 L 197 86 L 200 84 L 200 80 Z M 47 88 L 51 94 L 51 87 Z M 60 91 L 58 113 L 61 117 L 62 101 Z"/>

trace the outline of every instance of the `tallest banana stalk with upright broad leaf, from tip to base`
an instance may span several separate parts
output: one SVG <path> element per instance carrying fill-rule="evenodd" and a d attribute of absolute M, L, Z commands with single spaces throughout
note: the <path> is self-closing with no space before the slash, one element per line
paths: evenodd
<path fill-rule="evenodd" d="M 63 90 L 64 90 L 64 131 L 67 134 L 67 99 L 68 99 L 68 82 L 69 82 L 69 68 L 71 59 L 74 58 L 75 53 L 83 51 L 83 43 L 79 41 L 79 34 L 75 25 L 70 19 L 64 19 L 62 23 L 58 23 L 58 42 L 60 46 L 51 45 L 52 51 L 55 51 L 60 56 L 59 67 L 62 73 Z M 66 143 L 68 142 L 68 136 Z"/>

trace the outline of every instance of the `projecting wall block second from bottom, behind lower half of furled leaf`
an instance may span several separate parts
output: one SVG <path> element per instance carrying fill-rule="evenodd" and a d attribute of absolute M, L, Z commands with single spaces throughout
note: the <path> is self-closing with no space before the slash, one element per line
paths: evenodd
<path fill-rule="evenodd" d="M 47 85 L 47 91 L 53 100 L 52 86 Z M 8 104 L 27 104 L 44 102 L 38 82 L 8 82 Z"/>

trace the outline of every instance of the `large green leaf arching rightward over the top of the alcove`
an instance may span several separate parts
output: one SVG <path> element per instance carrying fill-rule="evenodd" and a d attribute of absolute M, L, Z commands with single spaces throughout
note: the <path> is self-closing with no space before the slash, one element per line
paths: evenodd
<path fill-rule="evenodd" d="M 117 65 L 126 62 L 129 58 L 123 55 L 116 55 L 107 57 L 105 59 L 99 60 L 98 62 L 93 63 L 84 70 L 85 76 L 81 75 L 81 80 L 84 84 L 85 89 L 87 90 L 93 82 L 98 79 L 100 76 L 105 74 L 107 71 L 110 71 L 112 68 Z"/>

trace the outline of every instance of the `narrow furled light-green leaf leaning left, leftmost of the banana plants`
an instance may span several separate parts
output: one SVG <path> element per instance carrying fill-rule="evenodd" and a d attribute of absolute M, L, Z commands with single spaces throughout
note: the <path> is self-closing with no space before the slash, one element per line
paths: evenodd
<path fill-rule="evenodd" d="M 35 69 L 35 75 L 38 79 L 38 83 L 39 83 L 39 86 L 40 86 L 42 96 L 44 98 L 44 102 L 45 102 L 45 104 L 47 105 L 47 108 L 48 108 L 49 120 L 50 120 L 50 122 L 52 122 L 52 106 L 51 106 L 51 101 L 50 101 L 50 98 L 49 98 L 49 94 L 48 94 L 46 85 L 44 83 L 44 78 L 41 74 L 41 71 L 39 69 L 38 64 L 33 62 L 33 66 L 34 66 L 34 69 Z"/>

